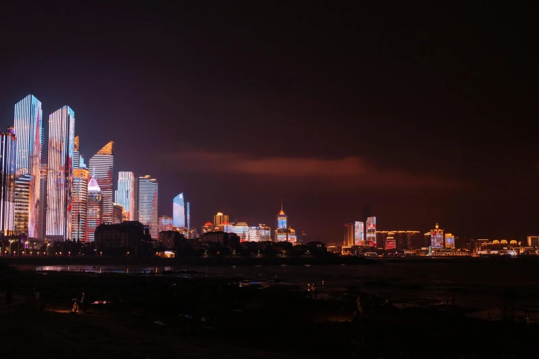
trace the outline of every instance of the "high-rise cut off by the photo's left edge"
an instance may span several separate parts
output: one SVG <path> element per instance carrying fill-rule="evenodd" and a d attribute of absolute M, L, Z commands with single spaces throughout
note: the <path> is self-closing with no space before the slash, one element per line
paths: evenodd
<path fill-rule="evenodd" d="M 12 235 L 15 219 L 17 138 L 12 127 L 0 132 L 0 235 Z"/>

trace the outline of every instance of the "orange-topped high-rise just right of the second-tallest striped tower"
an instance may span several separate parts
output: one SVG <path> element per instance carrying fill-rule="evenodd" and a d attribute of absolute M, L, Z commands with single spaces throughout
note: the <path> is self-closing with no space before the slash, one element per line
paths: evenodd
<path fill-rule="evenodd" d="M 73 199 L 71 216 L 72 240 L 86 240 L 86 224 L 88 213 L 88 179 L 87 168 L 73 169 Z"/>

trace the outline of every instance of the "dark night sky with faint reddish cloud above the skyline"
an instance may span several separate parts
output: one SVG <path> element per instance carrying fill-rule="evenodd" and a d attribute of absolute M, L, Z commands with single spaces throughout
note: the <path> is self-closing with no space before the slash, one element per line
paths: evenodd
<path fill-rule="evenodd" d="M 0 127 L 28 94 L 70 105 L 86 161 L 114 140 L 160 215 L 183 192 L 197 228 L 273 229 L 283 199 L 324 241 L 365 205 L 379 230 L 539 233 L 537 8 L 88 4 L 3 5 Z"/>

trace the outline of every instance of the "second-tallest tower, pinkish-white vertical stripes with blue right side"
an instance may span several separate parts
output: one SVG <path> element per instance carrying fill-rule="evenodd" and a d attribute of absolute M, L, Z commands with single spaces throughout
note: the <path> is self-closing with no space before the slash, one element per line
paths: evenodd
<path fill-rule="evenodd" d="M 46 235 L 71 239 L 75 113 L 64 106 L 49 115 Z"/>

